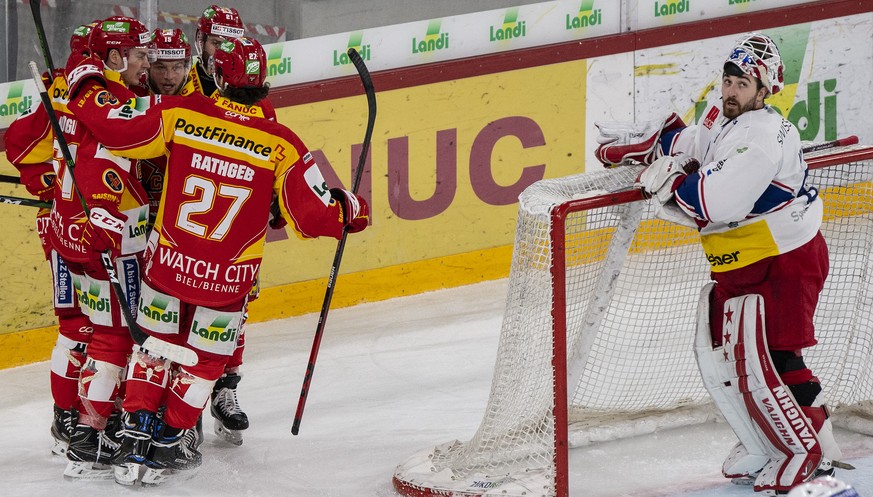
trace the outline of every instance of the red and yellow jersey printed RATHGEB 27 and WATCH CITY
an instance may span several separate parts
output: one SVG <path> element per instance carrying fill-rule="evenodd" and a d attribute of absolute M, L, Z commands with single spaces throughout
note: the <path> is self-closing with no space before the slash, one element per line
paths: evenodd
<path fill-rule="evenodd" d="M 156 97 L 138 110 L 100 105 L 105 91 L 95 85 L 75 102 L 83 122 L 105 124 L 97 138 L 126 157 L 168 154 L 146 251 L 156 289 L 213 307 L 242 299 L 261 264 L 273 193 L 298 236 L 342 236 L 340 205 L 287 127 L 220 96 Z"/>

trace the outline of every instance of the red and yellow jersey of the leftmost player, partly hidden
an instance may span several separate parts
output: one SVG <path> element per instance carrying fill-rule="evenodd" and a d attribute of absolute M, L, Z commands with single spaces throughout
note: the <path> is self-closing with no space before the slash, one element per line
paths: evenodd
<path fill-rule="evenodd" d="M 68 109 L 67 82 L 63 77 L 55 77 L 48 88 L 48 94 L 55 115 L 58 116 L 64 139 L 75 161 L 86 132 L 83 126 L 78 125 Z M 21 171 L 22 180 L 38 178 L 37 181 L 42 181 L 45 186 L 49 186 L 49 172 L 45 163 L 53 164 L 51 174 L 55 175 L 55 178 L 50 196 L 53 204 L 46 239 L 64 259 L 85 262 L 87 260 L 85 248 L 79 238 L 87 217 L 82 209 L 82 201 L 73 188 L 72 177 L 67 171 L 67 164 L 55 141 L 45 108 L 41 104 L 36 104 L 19 116 L 6 130 L 5 140 L 6 155 L 9 162 Z M 28 190 L 30 189 L 29 186 Z M 48 194 L 45 196 L 48 197 Z"/>

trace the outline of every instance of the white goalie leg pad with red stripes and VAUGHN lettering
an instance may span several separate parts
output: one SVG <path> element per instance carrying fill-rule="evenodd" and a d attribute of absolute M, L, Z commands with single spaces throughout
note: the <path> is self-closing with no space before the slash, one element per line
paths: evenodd
<path fill-rule="evenodd" d="M 724 362 L 734 376 L 769 462 L 755 491 L 787 491 L 814 476 L 822 462 L 815 430 L 773 367 L 764 328 L 764 300 L 743 295 L 727 300 L 723 313 Z"/>

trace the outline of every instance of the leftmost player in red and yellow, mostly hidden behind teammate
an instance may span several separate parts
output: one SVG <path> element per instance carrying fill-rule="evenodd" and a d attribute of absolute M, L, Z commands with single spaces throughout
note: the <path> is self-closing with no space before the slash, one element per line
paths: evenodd
<path fill-rule="evenodd" d="M 94 23 L 82 25 L 73 31 L 70 37 L 71 53 L 78 53 L 87 44 L 87 37 Z M 54 111 L 63 116 L 64 122 L 70 122 L 72 117 L 66 112 L 67 82 L 63 71 L 56 70 L 55 75 L 43 75 L 43 82 L 49 87 Z M 69 132 L 66 138 L 75 146 L 80 141 L 74 126 L 66 126 Z M 82 314 L 73 291 L 73 284 L 68 269 L 67 257 L 77 257 L 75 245 L 78 236 L 70 239 L 71 245 L 52 244 L 50 233 L 52 212 L 58 215 L 65 209 L 66 199 L 59 194 L 58 182 L 55 181 L 53 162 L 54 133 L 51 131 L 48 114 L 39 104 L 28 109 L 19 116 L 6 130 L 4 135 L 6 156 L 19 171 L 21 183 L 27 190 L 40 200 L 55 202 L 55 209 L 40 209 L 36 216 L 36 229 L 39 234 L 42 249 L 52 273 L 53 307 L 58 319 L 58 338 L 51 355 L 51 392 L 54 401 L 54 416 L 51 426 L 54 447 L 52 452 L 65 455 L 70 441 L 70 433 L 76 425 L 79 405 L 79 374 L 85 362 L 88 342 L 91 340 L 91 323 Z M 63 181 L 61 181 L 63 183 Z M 78 197 L 72 201 L 74 212 L 81 213 L 82 205 Z"/>

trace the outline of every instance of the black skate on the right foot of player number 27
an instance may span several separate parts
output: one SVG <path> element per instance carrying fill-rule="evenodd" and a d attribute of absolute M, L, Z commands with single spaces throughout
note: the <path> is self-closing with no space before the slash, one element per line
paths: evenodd
<path fill-rule="evenodd" d="M 200 451 L 194 448 L 194 437 L 194 428 L 181 430 L 159 422 L 145 461 L 146 471 L 142 476 L 142 484 L 160 485 L 170 478 L 178 478 L 175 475 L 180 473 L 193 476 L 193 470 L 199 468 L 203 462 Z"/>

